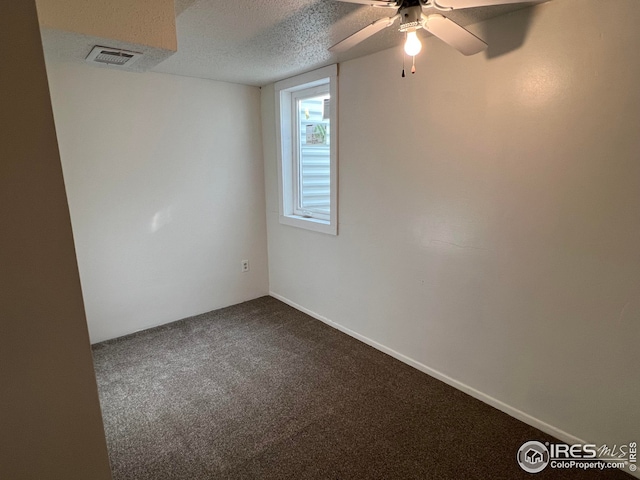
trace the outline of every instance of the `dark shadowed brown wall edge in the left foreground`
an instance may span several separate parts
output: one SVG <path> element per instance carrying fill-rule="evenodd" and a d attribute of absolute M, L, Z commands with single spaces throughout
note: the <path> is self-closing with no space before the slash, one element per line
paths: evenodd
<path fill-rule="evenodd" d="M 0 478 L 108 480 L 33 0 L 0 31 Z"/>

